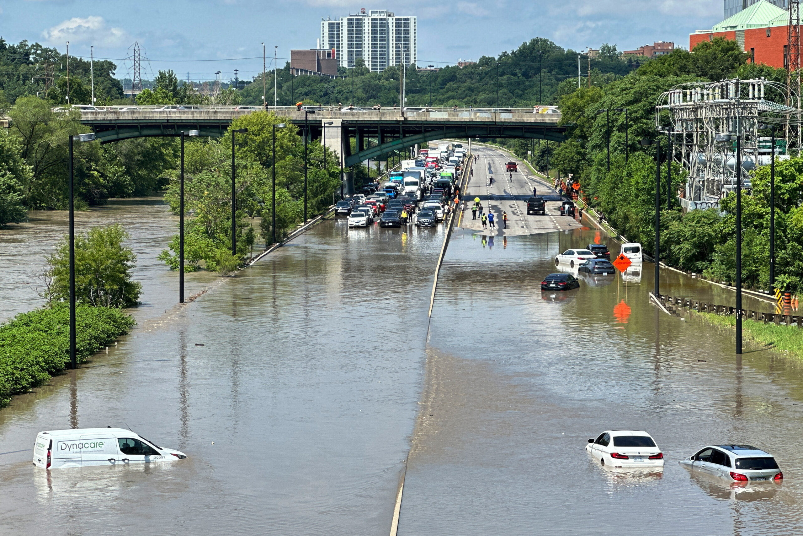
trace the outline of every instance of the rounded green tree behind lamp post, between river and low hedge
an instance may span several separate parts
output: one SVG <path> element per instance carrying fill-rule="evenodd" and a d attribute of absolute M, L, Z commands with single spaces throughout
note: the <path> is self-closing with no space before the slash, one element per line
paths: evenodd
<path fill-rule="evenodd" d="M 75 235 L 75 301 L 94 307 L 136 305 L 142 285 L 132 280 L 137 256 L 123 245 L 128 239 L 119 224 L 94 227 Z M 47 256 L 44 297 L 52 304 L 69 299 L 69 244 L 63 239 Z"/>

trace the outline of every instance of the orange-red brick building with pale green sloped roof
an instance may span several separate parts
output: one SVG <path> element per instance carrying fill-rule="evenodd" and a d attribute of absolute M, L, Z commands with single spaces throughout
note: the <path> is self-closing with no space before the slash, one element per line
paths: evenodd
<path fill-rule="evenodd" d="M 698 30 L 689 35 L 689 50 L 698 43 L 724 37 L 739 43 L 748 52 L 753 63 L 765 63 L 774 68 L 785 68 L 789 12 L 760 0 L 732 17 L 726 18 L 711 30 Z"/>

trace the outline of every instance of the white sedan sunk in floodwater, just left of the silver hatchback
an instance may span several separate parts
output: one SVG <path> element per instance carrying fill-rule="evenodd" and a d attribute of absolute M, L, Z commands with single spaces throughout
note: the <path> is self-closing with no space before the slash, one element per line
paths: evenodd
<path fill-rule="evenodd" d="M 615 468 L 663 467 L 663 452 L 642 430 L 606 430 L 590 439 L 585 450 L 600 464 Z"/>

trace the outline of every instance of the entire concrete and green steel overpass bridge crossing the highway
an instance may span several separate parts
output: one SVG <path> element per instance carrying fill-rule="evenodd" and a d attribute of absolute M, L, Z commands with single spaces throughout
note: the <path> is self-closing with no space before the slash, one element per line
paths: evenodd
<path fill-rule="evenodd" d="M 132 137 L 179 136 L 200 130 L 202 136 L 222 136 L 237 117 L 259 111 L 259 106 L 124 106 L 81 110 L 81 122 L 92 127 L 101 143 Z M 426 141 L 470 137 L 536 138 L 564 141 L 560 113 L 533 113 L 529 108 L 340 108 L 268 107 L 294 125 L 308 125 L 312 139 L 324 138 L 340 155 L 344 167 L 393 150 Z M 352 140 L 356 142 L 352 144 Z M 373 144 L 367 143 L 373 140 Z M 353 149 L 353 146 L 355 149 Z"/>

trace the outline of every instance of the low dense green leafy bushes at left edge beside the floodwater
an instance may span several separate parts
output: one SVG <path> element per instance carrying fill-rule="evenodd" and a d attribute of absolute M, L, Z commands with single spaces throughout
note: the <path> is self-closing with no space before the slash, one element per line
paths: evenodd
<path fill-rule="evenodd" d="M 121 309 L 75 308 L 75 358 L 81 363 L 136 322 Z M 70 309 L 20 313 L 0 325 L 0 407 L 63 372 L 70 362 Z"/>

